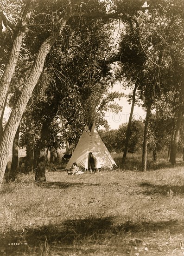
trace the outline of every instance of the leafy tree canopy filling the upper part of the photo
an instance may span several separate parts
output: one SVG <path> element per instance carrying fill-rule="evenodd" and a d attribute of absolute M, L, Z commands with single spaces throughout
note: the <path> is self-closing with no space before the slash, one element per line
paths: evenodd
<path fill-rule="evenodd" d="M 170 140 L 169 128 L 175 122 L 181 102 L 184 71 L 183 11 L 179 0 L 147 1 L 149 8 L 142 10 L 144 3 L 143 0 L 85 0 L 77 12 L 101 13 L 103 16 L 108 9 L 108 13 L 128 13 L 127 21 L 120 28 L 118 56 L 121 63 L 116 79 L 123 80 L 125 87 L 132 88 L 137 83 L 137 98 L 144 102 L 145 107 L 150 99 L 153 100 L 152 108 L 159 111 L 159 118 L 152 118 L 150 138 L 152 135 L 154 141 L 164 147 Z M 1 3 L 2 10 L 6 11 L 14 24 L 19 22 L 21 4 L 22 1 L 17 0 L 3 0 Z M 46 0 L 44 5 L 41 0 L 35 2 L 31 26 L 25 31 L 19 62 L 11 82 L 9 106 L 14 106 L 41 43 L 55 31 L 66 4 L 67 1 Z M 44 72 L 22 120 L 21 145 L 31 138 L 32 147 L 35 147 L 40 139 L 40 128 L 49 119 L 53 120 L 51 127 L 48 127 L 51 135 L 48 137 L 49 148 L 51 144 L 58 147 L 64 140 L 76 144 L 86 123 L 96 121 L 97 126 L 107 126 L 103 118 L 104 111 L 109 108 L 120 111 L 113 101 L 121 95 L 109 93 L 114 83 L 112 67 L 107 61 L 114 51 L 113 33 L 112 20 L 84 18 L 80 15 L 70 18 L 63 34 L 48 54 Z M 13 36 L 13 32 L 11 34 L 6 29 L 0 35 L 0 74 L 7 63 Z M 61 127 L 58 126 L 57 117 L 62 122 Z M 119 128 L 120 140 L 116 142 L 116 132 L 112 133 L 109 136 L 113 138 L 111 143 L 104 133 L 110 150 L 123 149 L 125 130 L 126 125 Z M 142 124 L 139 127 L 136 123 L 134 127 L 133 122 L 130 149 L 140 147 L 141 142 L 137 138 L 141 138 L 141 133 Z M 57 134 L 61 135 L 57 137 Z M 161 139 L 161 135 L 164 139 Z"/>

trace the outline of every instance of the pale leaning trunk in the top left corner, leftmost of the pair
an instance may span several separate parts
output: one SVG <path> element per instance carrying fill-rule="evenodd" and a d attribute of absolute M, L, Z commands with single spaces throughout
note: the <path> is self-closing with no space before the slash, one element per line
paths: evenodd
<path fill-rule="evenodd" d="M 8 88 L 10 85 L 10 82 L 12 80 L 12 76 L 18 61 L 19 57 L 19 52 L 20 52 L 20 47 L 22 44 L 22 40 L 25 34 L 25 26 L 27 25 L 31 13 L 32 13 L 32 5 L 33 5 L 34 0 L 28 0 L 26 2 L 26 5 L 23 7 L 22 12 L 21 12 L 21 21 L 18 24 L 19 25 L 19 30 L 16 32 L 16 37 L 13 41 L 13 47 L 12 51 L 9 56 L 9 61 L 5 67 L 5 71 L 3 73 L 3 76 L 0 80 L 0 116 L 2 115 L 3 112 L 3 107 L 6 103 L 6 94 L 8 92 Z M 23 26 L 23 28 L 21 28 Z"/>

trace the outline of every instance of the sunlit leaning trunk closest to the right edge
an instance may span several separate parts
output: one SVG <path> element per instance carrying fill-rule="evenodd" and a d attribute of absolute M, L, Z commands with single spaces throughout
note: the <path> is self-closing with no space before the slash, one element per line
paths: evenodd
<path fill-rule="evenodd" d="M 178 148 L 178 141 L 179 141 L 179 130 L 181 127 L 182 116 L 183 116 L 183 108 L 180 108 L 178 110 L 178 117 L 177 117 L 176 130 L 175 130 L 175 134 L 174 134 L 174 140 L 171 145 L 170 162 L 171 162 L 172 166 L 174 166 L 176 164 L 176 155 L 177 155 L 177 148 Z"/>

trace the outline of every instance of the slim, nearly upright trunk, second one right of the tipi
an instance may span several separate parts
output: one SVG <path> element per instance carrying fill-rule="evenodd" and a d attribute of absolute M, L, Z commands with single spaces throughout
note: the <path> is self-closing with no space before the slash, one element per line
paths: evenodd
<path fill-rule="evenodd" d="M 152 101 L 149 101 L 147 106 L 147 111 L 146 111 L 144 140 L 143 140 L 143 148 L 142 148 L 142 171 L 146 171 L 148 131 L 149 131 L 149 123 L 152 116 L 151 109 L 152 109 Z"/>

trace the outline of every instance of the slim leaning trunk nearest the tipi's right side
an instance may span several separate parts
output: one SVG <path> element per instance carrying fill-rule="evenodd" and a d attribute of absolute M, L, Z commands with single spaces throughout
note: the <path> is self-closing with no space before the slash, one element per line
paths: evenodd
<path fill-rule="evenodd" d="M 127 126 L 127 130 L 126 130 L 126 138 L 125 138 L 125 146 L 124 146 L 124 151 L 123 151 L 123 159 L 122 159 L 123 163 L 125 163 L 125 160 L 126 160 L 126 157 L 127 157 L 128 141 L 129 141 L 129 135 L 130 135 L 132 116 L 133 116 L 133 108 L 134 108 L 134 105 L 135 105 L 136 90 L 137 90 L 137 83 L 135 84 L 135 87 L 133 89 L 132 107 L 131 107 L 130 116 L 129 116 L 129 120 L 128 120 L 128 126 Z"/>

